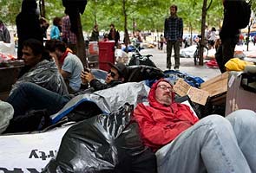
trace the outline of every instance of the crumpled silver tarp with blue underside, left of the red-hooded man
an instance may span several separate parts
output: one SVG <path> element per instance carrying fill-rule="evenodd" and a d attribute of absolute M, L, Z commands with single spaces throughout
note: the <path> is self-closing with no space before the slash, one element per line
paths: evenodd
<path fill-rule="evenodd" d="M 128 82 L 95 93 L 78 95 L 71 99 L 62 110 L 51 116 L 52 124 L 58 122 L 84 101 L 94 102 L 104 113 L 114 112 L 125 103 L 136 106 L 148 99 L 149 89 L 145 81 Z M 89 109 L 89 107 L 84 109 Z"/>

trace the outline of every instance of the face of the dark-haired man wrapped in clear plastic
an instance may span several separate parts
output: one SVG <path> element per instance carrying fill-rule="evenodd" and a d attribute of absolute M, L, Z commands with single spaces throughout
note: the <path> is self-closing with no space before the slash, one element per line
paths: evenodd
<path fill-rule="evenodd" d="M 41 59 L 42 54 L 35 55 L 30 47 L 23 47 L 23 60 L 26 66 L 34 67 Z"/>

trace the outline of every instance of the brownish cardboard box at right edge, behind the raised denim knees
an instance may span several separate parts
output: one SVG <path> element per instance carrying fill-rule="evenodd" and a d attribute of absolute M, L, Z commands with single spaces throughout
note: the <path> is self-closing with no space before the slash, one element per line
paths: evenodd
<path fill-rule="evenodd" d="M 253 86 L 252 84 L 255 84 L 256 80 L 254 79 L 251 83 L 246 82 L 247 80 L 241 73 L 230 74 L 226 93 L 225 116 L 237 109 L 250 109 L 256 112 L 256 92 L 246 90 L 247 88 L 241 85 Z M 256 86 L 253 87 L 256 89 Z"/>

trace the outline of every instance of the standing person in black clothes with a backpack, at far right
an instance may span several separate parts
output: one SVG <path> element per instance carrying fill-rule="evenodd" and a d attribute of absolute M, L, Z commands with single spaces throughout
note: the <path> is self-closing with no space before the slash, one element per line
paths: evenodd
<path fill-rule="evenodd" d="M 220 72 L 226 72 L 225 64 L 233 58 L 235 45 L 239 42 L 240 29 L 237 27 L 235 16 L 240 8 L 241 0 L 223 0 L 224 20 L 220 29 L 221 45 L 215 54 L 216 61 L 219 65 Z"/>

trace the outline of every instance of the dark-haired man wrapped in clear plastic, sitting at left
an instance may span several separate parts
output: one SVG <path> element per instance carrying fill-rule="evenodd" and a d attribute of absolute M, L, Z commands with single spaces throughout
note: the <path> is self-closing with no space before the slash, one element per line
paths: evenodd
<path fill-rule="evenodd" d="M 45 51 L 43 42 L 28 39 L 23 42 L 23 61 L 18 80 L 12 86 L 10 94 L 23 82 L 32 82 L 54 93 L 67 94 L 68 89 L 62 75 L 59 74 L 54 61 L 50 61 L 49 53 Z"/>

